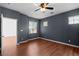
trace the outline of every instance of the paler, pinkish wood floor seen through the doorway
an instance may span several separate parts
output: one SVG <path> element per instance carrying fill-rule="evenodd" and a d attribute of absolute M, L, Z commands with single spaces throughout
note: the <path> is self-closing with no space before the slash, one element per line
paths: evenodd
<path fill-rule="evenodd" d="M 15 55 L 16 41 L 16 36 L 4 37 L 2 39 L 2 55 Z"/>

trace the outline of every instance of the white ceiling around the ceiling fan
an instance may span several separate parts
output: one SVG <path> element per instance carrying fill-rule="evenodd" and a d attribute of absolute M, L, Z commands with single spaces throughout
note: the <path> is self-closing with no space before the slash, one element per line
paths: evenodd
<path fill-rule="evenodd" d="M 54 10 L 46 10 L 45 13 L 41 12 L 40 10 L 34 12 L 34 10 L 39 8 L 37 5 L 39 6 L 39 3 L 0 3 L 0 6 L 2 7 L 16 10 L 20 13 L 37 19 L 46 18 L 79 8 L 79 3 L 49 3 L 48 6 L 54 7 Z M 51 12 L 53 13 L 51 14 Z"/>

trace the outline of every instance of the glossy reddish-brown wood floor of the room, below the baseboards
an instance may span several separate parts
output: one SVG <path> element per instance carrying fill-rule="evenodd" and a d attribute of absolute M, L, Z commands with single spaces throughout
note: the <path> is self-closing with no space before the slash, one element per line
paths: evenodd
<path fill-rule="evenodd" d="M 6 47 L 7 48 L 7 47 Z M 4 49 L 5 50 L 5 49 Z M 79 48 L 43 39 L 31 40 L 16 47 L 9 47 L 3 55 L 9 56 L 79 56 Z"/>

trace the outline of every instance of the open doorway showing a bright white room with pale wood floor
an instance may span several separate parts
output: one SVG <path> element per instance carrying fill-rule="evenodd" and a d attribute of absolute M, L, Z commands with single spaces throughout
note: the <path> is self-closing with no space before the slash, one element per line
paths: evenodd
<path fill-rule="evenodd" d="M 15 55 L 17 45 L 17 19 L 3 17 L 1 15 L 1 32 L 2 55 Z"/>

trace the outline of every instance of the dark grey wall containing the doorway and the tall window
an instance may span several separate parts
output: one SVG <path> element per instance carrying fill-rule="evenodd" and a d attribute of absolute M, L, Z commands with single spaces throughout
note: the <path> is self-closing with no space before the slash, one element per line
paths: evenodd
<path fill-rule="evenodd" d="M 8 18 L 15 18 L 17 19 L 17 42 L 21 42 L 21 41 L 24 41 L 24 40 L 27 40 L 27 39 L 30 39 L 30 38 L 36 38 L 39 36 L 39 20 L 37 19 L 34 19 L 34 18 L 31 18 L 31 17 L 28 17 L 26 15 L 23 15 L 19 12 L 16 12 L 16 11 L 13 11 L 13 10 L 10 10 L 10 9 L 7 9 L 7 8 L 3 8 L 3 7 L 0 7 L 1 8 L 1 13 L 3 14 L 4 17 L 8 17 Z M 1 15 L 0 13 L 0 15 Z M 38 33 L 37 34 L 29 34 L 29 21 L 32 20 L 32 21 L 36 21 L 38 22 Z M 0 27 L 1 28 L 1 27 Z M 23 30 L 22 32 L 20 30 Z"/>

